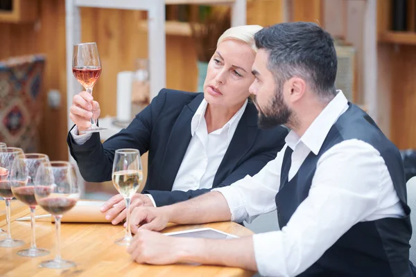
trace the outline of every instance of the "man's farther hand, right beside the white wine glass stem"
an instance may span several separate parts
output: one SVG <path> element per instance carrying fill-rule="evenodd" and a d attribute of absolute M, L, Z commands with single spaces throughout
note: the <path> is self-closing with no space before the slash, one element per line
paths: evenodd
<path fill-rule="evenodd" d="M 169 216 L 166 207 L 136 207 L 130 215 L 130 227 L 132 233 L 137 230 L 147 229 L 160 231 L 165 229 L 169 222 Z M 141 225 L 138 227 L 137 225 Z"/>

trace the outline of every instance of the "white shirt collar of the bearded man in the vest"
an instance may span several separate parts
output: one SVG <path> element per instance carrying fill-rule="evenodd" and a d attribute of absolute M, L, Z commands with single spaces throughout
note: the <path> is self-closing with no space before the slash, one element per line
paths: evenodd
<path fill-rule="evenodd" d="M 292 150 L 295 150 L 296 145 L 302 141 L 313 154 L 317 155 L 319 153 L 332 125 L 348 109 L 348 100 L 345 98 L 343 91 L 337 90 L 337 92 L 336 96 L 313 120 L 301 138 L 295 132 L 289 132 L 285 140 Z"/>

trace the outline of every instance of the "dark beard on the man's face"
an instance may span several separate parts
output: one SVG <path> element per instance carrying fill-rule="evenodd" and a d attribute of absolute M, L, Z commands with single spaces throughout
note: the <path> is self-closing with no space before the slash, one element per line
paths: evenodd
<path fill-rule="evenodd" d="M 258 125 L 262 129 L 268 129 L 277 125 L 286 125 L 291 123 L 293 113 L 283 100 L 282 87 L 278 87 L 275 97 L 270 102 L 270 105 L 261 109 L 254 99 L 254 104 L 259 111 Z"/>

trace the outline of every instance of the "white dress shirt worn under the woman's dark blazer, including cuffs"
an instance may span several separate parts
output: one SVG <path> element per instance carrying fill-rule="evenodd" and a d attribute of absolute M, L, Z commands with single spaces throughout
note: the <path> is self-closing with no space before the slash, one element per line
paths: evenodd
<path fill-rule="evenodd" d="M 225 125 L 208 134 L 205 111 L 208 102 L 203 99 L 191 120 L 191 141 L 185 152 L 172 190 L 198 190 L 200 188 L 212 188 L 214 177 L 221 161 L 227 152 L 228 145 L 234 136 L 241 116 L 243 116 L 248 100 Z M 76 144 L 82 145 L 92 134 L 79 135 L 75 126 L 71 136 Z M 147 195 L 156 206 L 152 195 Z"/>

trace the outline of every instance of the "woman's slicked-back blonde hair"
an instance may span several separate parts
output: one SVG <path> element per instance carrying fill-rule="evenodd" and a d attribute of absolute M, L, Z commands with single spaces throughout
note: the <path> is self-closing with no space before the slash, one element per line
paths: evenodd
<path fill-rule="evenodd" d="M 253 49 L 254 53 L 257 53 L 256 43 L 254 42 L 254 34 L 262 28 L 263 27 L 259 25 L 241 25 L 231 27 L 227 29 L 223 35 L 220 36 L 217 42 L 217 46 L 227 39 L 237 39 L 248 44 L 248 46 Z"/>

